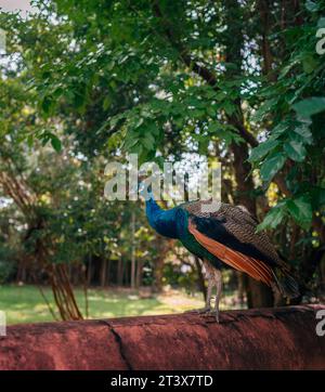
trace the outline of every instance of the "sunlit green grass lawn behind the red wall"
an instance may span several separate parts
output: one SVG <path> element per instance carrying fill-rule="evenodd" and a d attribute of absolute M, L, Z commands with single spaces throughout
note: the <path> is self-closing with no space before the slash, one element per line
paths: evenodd
<path fill-rule="evenodd" d="M 53 304 L 50 288 L 43 288 Z M 82 289 L 75 290 L 77 302 L 84 314 Z M 202 295 L 187 296 L 170 290 L 153 298 L 143 299 L 127 289 L 89 289 L 89 318 L 109 318 L 168 313 L 182 313 L 203 308 Z M 240 308 L 235 293 L 224 292 L 221 309 Z M 54 306 L 55 309 L 55 306 Z M 5 312 L 8 324 L 51 322 L 52 315 L 40 291 L 35 286 L 0 286 L 0 310 Z"/>

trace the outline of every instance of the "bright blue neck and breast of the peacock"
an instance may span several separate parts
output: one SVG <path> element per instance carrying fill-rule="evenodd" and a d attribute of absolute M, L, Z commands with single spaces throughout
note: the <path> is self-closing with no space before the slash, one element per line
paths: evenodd
<path fill-rule="evenodd" d="M 145 201 L 145 212 L 150 225 L 155 228 L 156 232 L 169 238 L 178 238 L 177 230 L 177 209 L 162 210 L 154 197 L 151 196 Z"/>

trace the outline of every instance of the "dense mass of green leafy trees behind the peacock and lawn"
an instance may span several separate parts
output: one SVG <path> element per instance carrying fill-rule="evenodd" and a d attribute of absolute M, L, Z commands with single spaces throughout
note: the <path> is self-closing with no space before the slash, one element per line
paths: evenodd
<path fill-rule="evenodd" d="M 321 298 L 325 2 L 34 3 L 0 15 L 0 278 L 51 284 L 62 318 L 81 317 L 72 284 L 205 291 L 141 204 L 103 199 L 109 160 L 205 155 L 222 164 L 223 201 L 257 215 Z M 230 274 L 248 306 L 273 304 Z"/>

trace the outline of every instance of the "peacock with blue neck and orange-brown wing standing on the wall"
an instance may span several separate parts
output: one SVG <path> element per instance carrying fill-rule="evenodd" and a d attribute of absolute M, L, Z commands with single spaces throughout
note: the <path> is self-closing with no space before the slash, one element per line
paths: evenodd
<path fill-rule="evenodd" d="M 161 209 L 147 193 L 145 211 L 150 225 L 160 235 L 179 239 L 199 258 L 208 280 L 205 308 L 219 323 L 222 293 L 221 271 L 231 266 L 272 288 L 275 296 L 288 299 L 300 296 L 299 284 L 290 266 L 276 252 L 264 232 L 257 232 L 258 221 L 243 206 L 213 201 L 213 212 L 205 212 L 210 200 L 187 201 L 174 208 Z M 204 212 L 203 212 L 204 211 Z M 216 287 L 214 309 L 211 309 Z"/>

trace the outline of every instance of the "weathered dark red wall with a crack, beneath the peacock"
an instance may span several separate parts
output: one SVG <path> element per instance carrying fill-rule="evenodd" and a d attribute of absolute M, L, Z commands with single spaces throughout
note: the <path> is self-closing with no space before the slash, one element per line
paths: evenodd
<path fill-rule="evenodd" d="M 25 324 L 0 337 L 0 369 L 325 369 L 325 305 Z"/>

